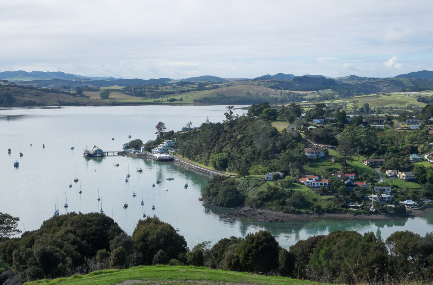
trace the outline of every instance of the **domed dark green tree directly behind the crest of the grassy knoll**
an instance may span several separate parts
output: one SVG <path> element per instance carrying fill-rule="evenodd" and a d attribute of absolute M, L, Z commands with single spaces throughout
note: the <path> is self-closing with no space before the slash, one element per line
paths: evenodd
<path fill-rule="evenodd" d="M 177 258 L 180 253 L 187 250 L 185 238 L 158 217 L 139 220 L 132 240 L 135 242 L 136 250 L 143 255 L 143 264 L 152 263 L 158 250 L 163 250 L 169 259 Z"/>

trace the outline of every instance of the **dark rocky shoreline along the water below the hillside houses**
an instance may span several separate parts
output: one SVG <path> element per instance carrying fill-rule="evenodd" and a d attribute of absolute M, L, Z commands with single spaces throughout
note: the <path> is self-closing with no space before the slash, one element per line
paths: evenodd
<path fill-rule="evenodd" d="M 206 198 L 200 198 L 199 200 L 207 201 Z M 274 212 L 268 209 L 255 209 L 246 206 L 230 208 L 230 209 L 232 210 L 232 212 L 221 214 L 221 216 L 227 218 L 254 218 L 261 222 L 289 222 L 289 221 L 307 222 L 318 218 L 332 218 L 332 219 L 340 219 L 340 220 L 391 221 L 391 220 L 400 220 L 404 218 L 420 217 L 422 215 L 427 214 L 428 212 L 433 211 L 433 208 L 431 206 L 423 209 L 412 209 L 410 212 L 406 212 L 403 214 L 394 214 L 394 215 L 363 215 L 363 214 L 352 215 L 351 213 L 295 214 L 295 213 Z"/>

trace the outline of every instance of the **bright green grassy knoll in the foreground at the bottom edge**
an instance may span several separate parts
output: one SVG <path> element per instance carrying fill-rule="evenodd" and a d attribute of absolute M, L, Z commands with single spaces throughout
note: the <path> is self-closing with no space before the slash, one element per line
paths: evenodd
<path fill-rule="evenodd" d="M 137 266 L 129 269 L 108 269 L 91 272 L 87 275 L 74 275 L 69 278 L 54 280 L 39 280 L 29 282 L 29 285 L 115 285 L 129 281 L 126 284 L 291 284 L 310 285 L 325 284 L 301 281 L 280 276 L 256 275 L 247 272 L 230 272 L 193 266 Z"/>

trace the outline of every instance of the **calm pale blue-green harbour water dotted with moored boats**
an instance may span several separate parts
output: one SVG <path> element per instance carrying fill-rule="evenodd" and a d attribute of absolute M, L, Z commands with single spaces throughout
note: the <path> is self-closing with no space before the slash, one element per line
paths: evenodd
<path fill-rule="evenodd" d="M 242 106 L 235 106 L 242 107 Z M 114 220 L 128 234 L 143 211 L 181 229 L 190 247 L 202 241 L 242 236 L 267 229 L 282 247 L 299 239 L 328 234 L 334 230 L 373 231 L 388 237 L 394 231 L 410 230 L 419 234 L 433 231 L 433 214 L 397 221 L 352 221 L 318 219 L 311 222 L 268 223 L 252 219 L 223 218 L 229 209 L 203 205 L 197 199 L 210 177 L 188 171 L 174 163 L 158 163 L 148 158 L 109 155 L 83 158 L 86 144 L 104 151 L 117 151 L 124 142 L 155 138 L 155 126 L 165 123 L 167 130 L 178 131 L 188 121 L 193 126 L 224 119 L 226 106 L 122 106 L 0 109 L 0 212 L 20 218 L 19 229 L 35 230 L 53 215 L 55 204 L 60 214 L 99 212 Z M 236 110 L 242 114 L 244 110 Z M 128 139 L 128 135 L 132 138 Z M 111 138 L 114 137 L 114 140 Z M 72 139 L 74 150 L 71 150 Z M 30 140 L 32 146 L 30 146 Z M 45 144 L 45 149 L 42 148 Z M 8 154 L 7 149 L 11 149 Z M 23 157 L 19 157 L 22 150 Z M 19 161 L 19 168 L 13 162 Z M 120 166 L 113 166 L 119 163 Z M 143 172 L 136 171 L 137 164 Z M 125 182 L 129 173 L 129 182 Z M 70 179 L 76 175 L 79 182 Z M 166 180 L 173 177 L 174 180 Z M 152 187 L 153 180 L 162 183 Z M 184 188 L 187 182 L 189 187 Z M 99 196 L 102 200 L 97 201 Z M 164 188 L 167 187 L 168 191 Z M 82 193 L 79 194 L 80 189 Z M 135 191 L 137 196 L 132 197 Z M 68 208 L 64 208 L 65 193 Z M 144 206 L 140 205 L 142 200 Z M 129 204 L 123 209 L 125 201 Z M 102 202 L 102 203 L 101 203 Z M 152 210 L 154 203 L 156 209 Z"/>

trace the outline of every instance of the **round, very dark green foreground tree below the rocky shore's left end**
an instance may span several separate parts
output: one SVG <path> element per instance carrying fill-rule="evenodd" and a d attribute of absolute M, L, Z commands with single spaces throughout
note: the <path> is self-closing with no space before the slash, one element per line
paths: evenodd
<path fill-rule="evenodd" d="M 239 244 L 242 269 L 248 272 L 269 272 L 278 268 L 278 242 L 269 231 L 249 233 Z"/>

